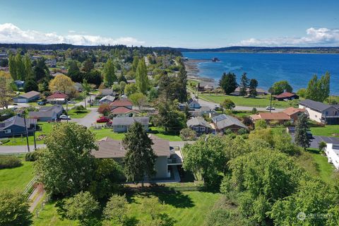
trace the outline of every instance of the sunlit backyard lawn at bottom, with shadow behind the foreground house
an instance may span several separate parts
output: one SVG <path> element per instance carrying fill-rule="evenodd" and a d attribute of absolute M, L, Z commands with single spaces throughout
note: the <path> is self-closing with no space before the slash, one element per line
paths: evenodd
<path fill-rule="evenodd" d="M 180 191 L 171 186 L 163 186 L 160 189 L 147 192 L 135 192 L 127 194 L 131 217 L 137 220 L 148 218 L 141 213 L 141 201 L 149 195 L 157 196 L 165 203 L 165 211 L 169 218 L 174 219 L 174 225 L 200 226 L 204 224 L 207 213 L 213 208 L 220 194 L 204 191 Z M 47 203 L 39 217 L 34 219 L 34 224 L 40 225 L 77 225 L 76 221 L 61 219 L 58 213 L 57 203 Z"/>

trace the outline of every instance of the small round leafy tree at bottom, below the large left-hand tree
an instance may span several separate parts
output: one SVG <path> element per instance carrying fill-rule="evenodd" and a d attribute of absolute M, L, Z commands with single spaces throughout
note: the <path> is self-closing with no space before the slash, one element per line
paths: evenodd
<path fill-rule="evenodd" d="M 79 220 L 81 225 L 88 225 L 93 213 L 99 209 L 99 203 L 88 191 L 81 191 L 71 198 L 67 198 L 64 208 L 66 209 L 66 218 Z"/>

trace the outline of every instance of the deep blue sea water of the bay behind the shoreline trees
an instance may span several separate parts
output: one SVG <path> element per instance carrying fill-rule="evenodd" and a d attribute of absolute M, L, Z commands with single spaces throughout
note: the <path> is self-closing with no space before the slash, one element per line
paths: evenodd
<path fill-rule="evenodd" d="M 233 72 L 237 79 L 246 72 L 258 80 L 258 88 L 268 90 L 276 81 L 287 80 L 293 90 L 307 88 L 316 73 L 331 73 L 331 95 L 339 95 L 339 54 L 254 54 L 220 52 L 183 52 L 189 59 L 212 59 L 198 63 L 198 76 L 214 78 L 218 83 L 224 72 Z"/>

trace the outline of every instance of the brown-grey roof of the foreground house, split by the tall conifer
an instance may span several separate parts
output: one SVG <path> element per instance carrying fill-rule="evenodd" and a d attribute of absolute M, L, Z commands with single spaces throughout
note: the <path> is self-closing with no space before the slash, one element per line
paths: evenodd
<path fill-rule="evenodd" d="M 153 151 L 157 156 L 170 156 L 169 142 L 163 139 L 151 137 Z M 102 138 L 97 141 L 98 150 L 92 150 L 96 158 L 121 158 L 125 157 L 126 150 L 122 141 L 114 141 L 112 138 Z"/>

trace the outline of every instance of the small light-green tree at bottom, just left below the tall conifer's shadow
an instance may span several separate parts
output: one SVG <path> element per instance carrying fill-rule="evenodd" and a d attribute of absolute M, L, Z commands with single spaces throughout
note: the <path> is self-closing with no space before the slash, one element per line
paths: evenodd
<path fill-rule="evenodd" d="M 109 198 L 109 201 L 106 203 L 106 207 L 104 208 L 103 213 L 105 218 L 108 220 L 114 220 L 120 225 L 123 225 L 128 213 L 127 204 L 128 202 L 126 201 L 125 196 L 118 196 L 114 194 L 111 198 Z"/>

